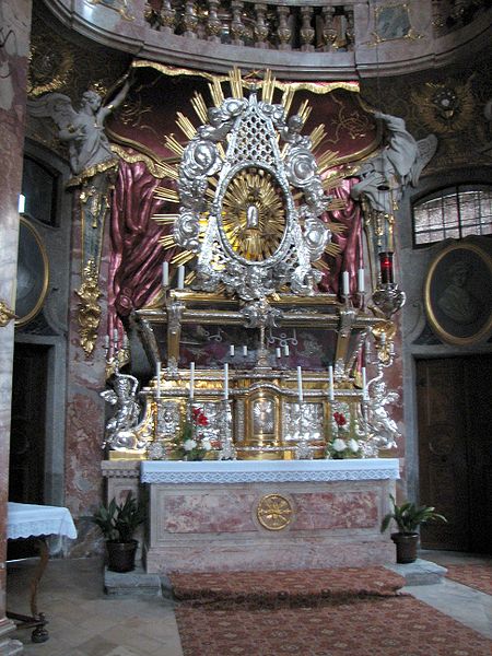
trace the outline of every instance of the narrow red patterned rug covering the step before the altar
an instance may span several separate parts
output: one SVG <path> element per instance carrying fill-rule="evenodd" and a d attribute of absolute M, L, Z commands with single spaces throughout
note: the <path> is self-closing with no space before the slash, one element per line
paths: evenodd
<path fill-rule="evenodd" d="M 405 578 L 386 567 L 276 572 L 194 573 L 169 576 L 177 601 L 214 609 L 326 606 L 367 597 L 394 597 Z"/>

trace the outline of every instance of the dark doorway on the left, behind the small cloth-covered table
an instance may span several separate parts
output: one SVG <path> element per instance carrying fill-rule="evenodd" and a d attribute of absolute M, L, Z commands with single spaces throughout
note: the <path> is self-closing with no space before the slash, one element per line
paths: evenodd
<path fill-rule="evenodd" d="M 15 343 L 12 378 L 9 501 L 45 501 L 48 347 Z M 9 560 L 33 554 L 32 540 L 9 540 Z"/>

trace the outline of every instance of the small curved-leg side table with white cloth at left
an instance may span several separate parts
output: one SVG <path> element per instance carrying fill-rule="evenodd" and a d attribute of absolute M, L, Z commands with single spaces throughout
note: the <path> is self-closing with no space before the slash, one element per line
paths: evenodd
<path fill-rule="evenodd" d="M 7 616 L 24 628 L 34 626 L 33 642 L 46 642 L 49 637 L 45 625 L 44 613 L 37 610 L 37 587 L 49 560 L 46 543 L 48 536 L 66 536 L 77 538 L 77 529 L 68 508 L 30 503 L 9 502 L 7 505 L 7 538 L 37 538 L 39 546 L 39 563 L 31 582 L 31 617 L 14 612 Z"/>

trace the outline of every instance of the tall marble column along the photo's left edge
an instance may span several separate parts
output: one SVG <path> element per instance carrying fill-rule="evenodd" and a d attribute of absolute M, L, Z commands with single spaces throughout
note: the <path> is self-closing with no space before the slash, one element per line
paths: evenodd
<path fill-rule="evenodd" d="M 5 618 L 7 500 L 12 393 L 19 194 L 22 181 L 32 0 L 0 0 L 0 654 L 19 654 Z M 3 311 L 3 312 L 2 312 Z"/>

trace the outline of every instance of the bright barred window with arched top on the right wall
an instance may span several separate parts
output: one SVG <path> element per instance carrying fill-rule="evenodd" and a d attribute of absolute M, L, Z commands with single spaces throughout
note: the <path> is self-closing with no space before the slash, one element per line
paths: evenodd
<path fill-rule="evenodd" d="M 421 198 L 413 206 L 413 243 L 492 234 L 492 186 L 459 185 Z"/>

